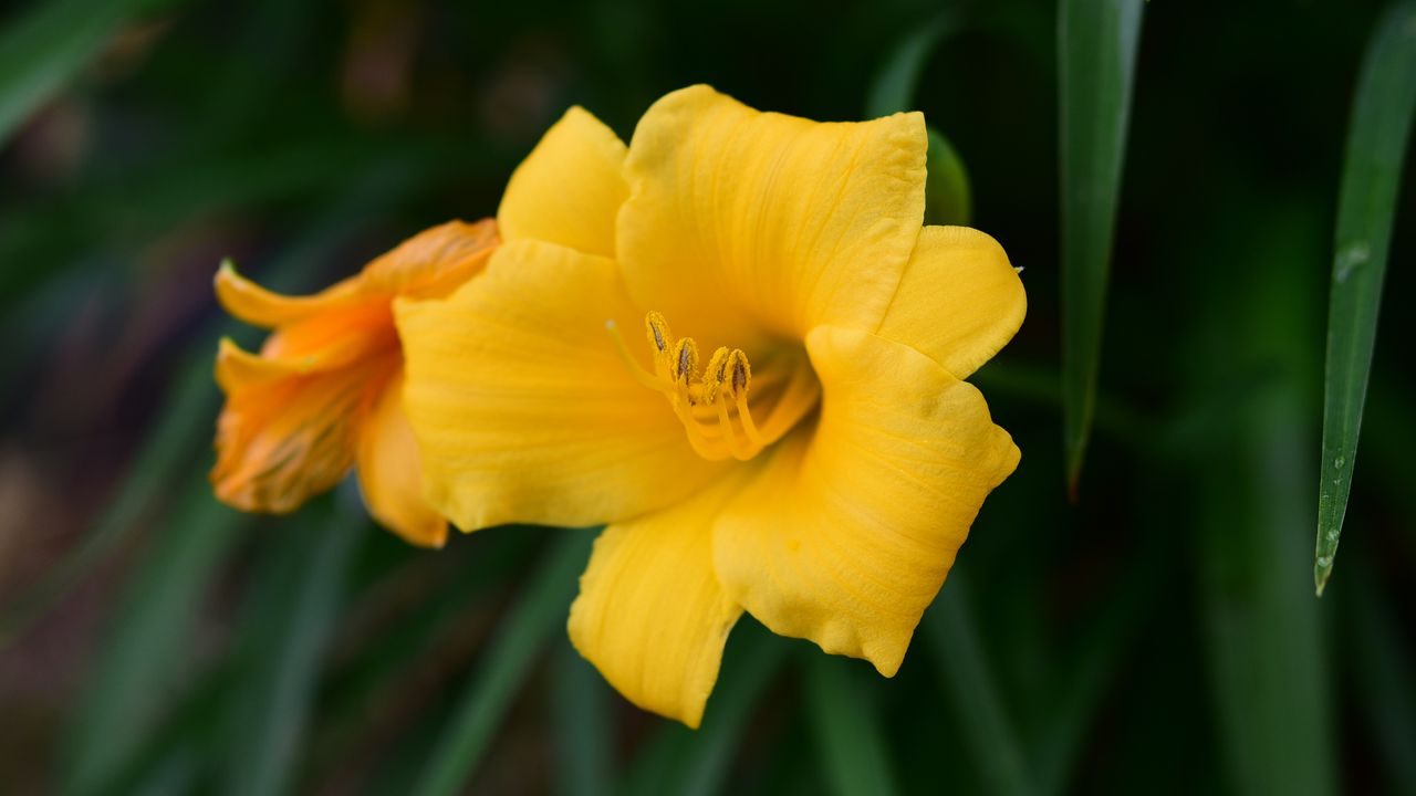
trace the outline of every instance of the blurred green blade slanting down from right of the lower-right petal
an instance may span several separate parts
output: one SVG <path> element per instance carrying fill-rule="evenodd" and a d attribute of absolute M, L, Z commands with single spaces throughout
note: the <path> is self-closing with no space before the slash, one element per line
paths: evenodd
<path fill-rule="evenodd" d="M 953 572 L 935 605 L 925 612 L 925 637 L 935 650 L 944 691 L 950 695 L 963 742 L 978 762 L 990 793 L 1034 793 L 1022 746 L 1003 697 L 990 674 L 983 640 L 974 627 L 967 584 Z"/>

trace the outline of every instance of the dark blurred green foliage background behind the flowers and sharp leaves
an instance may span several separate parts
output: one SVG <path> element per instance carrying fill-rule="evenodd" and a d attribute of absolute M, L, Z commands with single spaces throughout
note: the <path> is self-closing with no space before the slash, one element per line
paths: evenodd
<path fill-rule="evenodd" d="M 1313 596 L 1327 289 L 1372 1 L 1144 7 L 1078 501 L 1063 477 L 1049 1 L 0 10 L 0 792 L 1416 793 L 1416 174 L 1347 534 Z M 224 256 L 313 290 L 491 215 L 571 103 L 694 82 L 967 164 L 1028 320 L 974 381 L 1022 449 L 898 677 L 743 619 L 704 729 L 565 640 L 592 531 L 438 554 L 348 484 L 217 504 Z M 1408 31 L 1408 47 L 1416 33 Z M 913 41 L 919 41 L 918 38 Z"/>

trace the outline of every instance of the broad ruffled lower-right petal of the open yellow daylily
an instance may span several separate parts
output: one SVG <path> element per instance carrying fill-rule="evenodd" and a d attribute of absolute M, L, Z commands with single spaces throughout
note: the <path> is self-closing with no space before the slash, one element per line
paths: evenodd
<path fill-rule="evenodd" d="M 773 632 L 899 669 L 988 491 L 1018 463 L 983 397 L 858 330 L 807 337 L 821 415 L 714 528 L 728 593 Z"/>

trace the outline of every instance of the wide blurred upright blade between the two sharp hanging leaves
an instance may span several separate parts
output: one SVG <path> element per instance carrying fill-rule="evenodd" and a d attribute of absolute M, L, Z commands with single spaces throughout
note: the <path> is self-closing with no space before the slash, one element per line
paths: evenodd
<path fill-rule="evenodd" d="M 1311 205 L 1245 217 L 1242 275 L 1197 324 L 1232 340 L 1204 373 L 1202 401 L 1221 421 L 1194 452 L 1201 616 L 1206 632 L 1216 739 L 1229 790 L 1327 795 L 1338 789 L 1323 603 L 1308 598 L 1306 507 L 1317 452 L 1307 399 L 1318 384 L 1311 346 L 1320 268 Z M 1216 272 L 1219 273 L 1219 272 Z M 1206 296 L 1212 292 L 1205 290 Z M 1218 368 L 1218 374 L 1215 370 Z M 1262 374 L 1242 391 L 1233 374 Z M 1231 384 L 1215 391 L 1214 384 Z M 1208 394 L 1206 394 L 1208 392 Z"/>

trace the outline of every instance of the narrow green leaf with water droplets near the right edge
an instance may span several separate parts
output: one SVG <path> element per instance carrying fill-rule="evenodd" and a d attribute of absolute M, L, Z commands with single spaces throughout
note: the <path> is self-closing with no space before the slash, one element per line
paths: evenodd
<path fill-rule="evenodd" d="M 1318 535 L 1313 564 L 1318 595 L 1332 576 L 1332 559 L 1352 489 L 1362 406 L 1366 404 L 1366 382 L 1376 344 L 1386 249 L 1413 109 L 1416 3 L 1408 1 L 1392 7 L 1372 34 L 1348 123 L 1328 299 Z"/>

